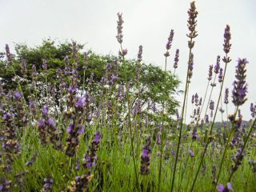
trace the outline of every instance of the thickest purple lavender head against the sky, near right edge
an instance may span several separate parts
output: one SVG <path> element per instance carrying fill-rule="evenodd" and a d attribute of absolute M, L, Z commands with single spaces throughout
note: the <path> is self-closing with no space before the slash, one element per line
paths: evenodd
<path fill-rule="evenodd" d="M 246 58 L 238 58 L 238 66 L 236 66 L 236 75 L 237 79 L 234 81 L 234 89 L 232 91 L 233 103 L 235 106 L 241 106 L 246 102 L 246 93 L 247 93 L 247 84 L 246 84 Z"/>

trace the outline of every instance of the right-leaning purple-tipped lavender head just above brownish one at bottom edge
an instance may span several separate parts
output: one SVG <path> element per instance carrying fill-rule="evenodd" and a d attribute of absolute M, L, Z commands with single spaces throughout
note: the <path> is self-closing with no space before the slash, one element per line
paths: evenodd
<path fill-rule="evenodd" d="M 86 167 L 87 169 L 91 169 L 95 166 L 95 163 L 97 161 L 97 150 L 99 146 L 99 142 L 101 141 L 102 135 L 99 134 L 97 131 L 94 134 L 94 140 L 91 142 L 89 149 L 87 150 L 84 158 L 82 166 Z"/>

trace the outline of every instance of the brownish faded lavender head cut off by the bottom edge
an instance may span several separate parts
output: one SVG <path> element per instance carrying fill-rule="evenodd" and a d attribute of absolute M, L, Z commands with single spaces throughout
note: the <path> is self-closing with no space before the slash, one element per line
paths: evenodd
<path fill-rule="evenodd" d="M 77 176 L 71 185 L 68 187 L 68 192 L 80 192 L 86 191 L 89 186 L 89 182 L 92 180 L 93 175 L 83 174 L 82 176 Z"/>

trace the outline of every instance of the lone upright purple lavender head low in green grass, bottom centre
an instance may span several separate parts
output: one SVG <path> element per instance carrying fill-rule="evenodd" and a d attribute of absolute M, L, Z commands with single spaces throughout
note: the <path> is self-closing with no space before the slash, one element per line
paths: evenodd
<path fill-rule="evenodd" d="M 151 153 L 151 138 L 146 139 L 146 145 L 143 147 L 141 154 L 141 169 L 140 174 L 150 174 L 150 153 Z"/>

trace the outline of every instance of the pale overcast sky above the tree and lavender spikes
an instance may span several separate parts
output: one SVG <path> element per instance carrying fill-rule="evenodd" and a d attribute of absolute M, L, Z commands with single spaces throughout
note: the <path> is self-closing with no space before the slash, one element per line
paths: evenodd
<path fill-rule="evenodd" d="M 135 58 L 138 46 L 143 46 L 143 60 L 164 69 L 166 40 L 174 29 L 174 42 L 168 58 L 168 70 L 173 70 L 174 51 L 180 49 L 177 74 L 186 79 L 188 48 L 186 33 L 189 0 L 0 0 L 0 47 L 8 43 L 37 46 L 43 38 L 76 40 L 86 43 L 85 50 L 98 54 L 118 53 L 116 41 L 117 13 L 122 12 L 123 45 L 128 58 Z M 208 66 L 215 64 L 217 55 L 223 56 L 222 43 L 226 24 L 230 25 L 230 62 L 225 87 L 233 89 L 234 70 L 238 58 L 247 58 L 248 101 L 244 104 L 244 119 L 250 118 L 250 102 L 256 101 L 256 1 L 255 0 L 198 0 L 198 38 L 194 46 L 194 74 L 191 95 L 203 96 Z M 224 66 L 222 62 L 222 66 Z M 180 89 L 184 88 L 184 84 Z M 214 101 L 217 101 L 214 91 Z M 180 96 L 178 99 L 182 101 Z M 234 110 L 230 103 L 229 112 Z M 189 107 L 188 111 L 191 111 Z M 226 116 L 225 116 L 226 117 Z M 220 116 L 218 116 L 220 120 Z"/>

